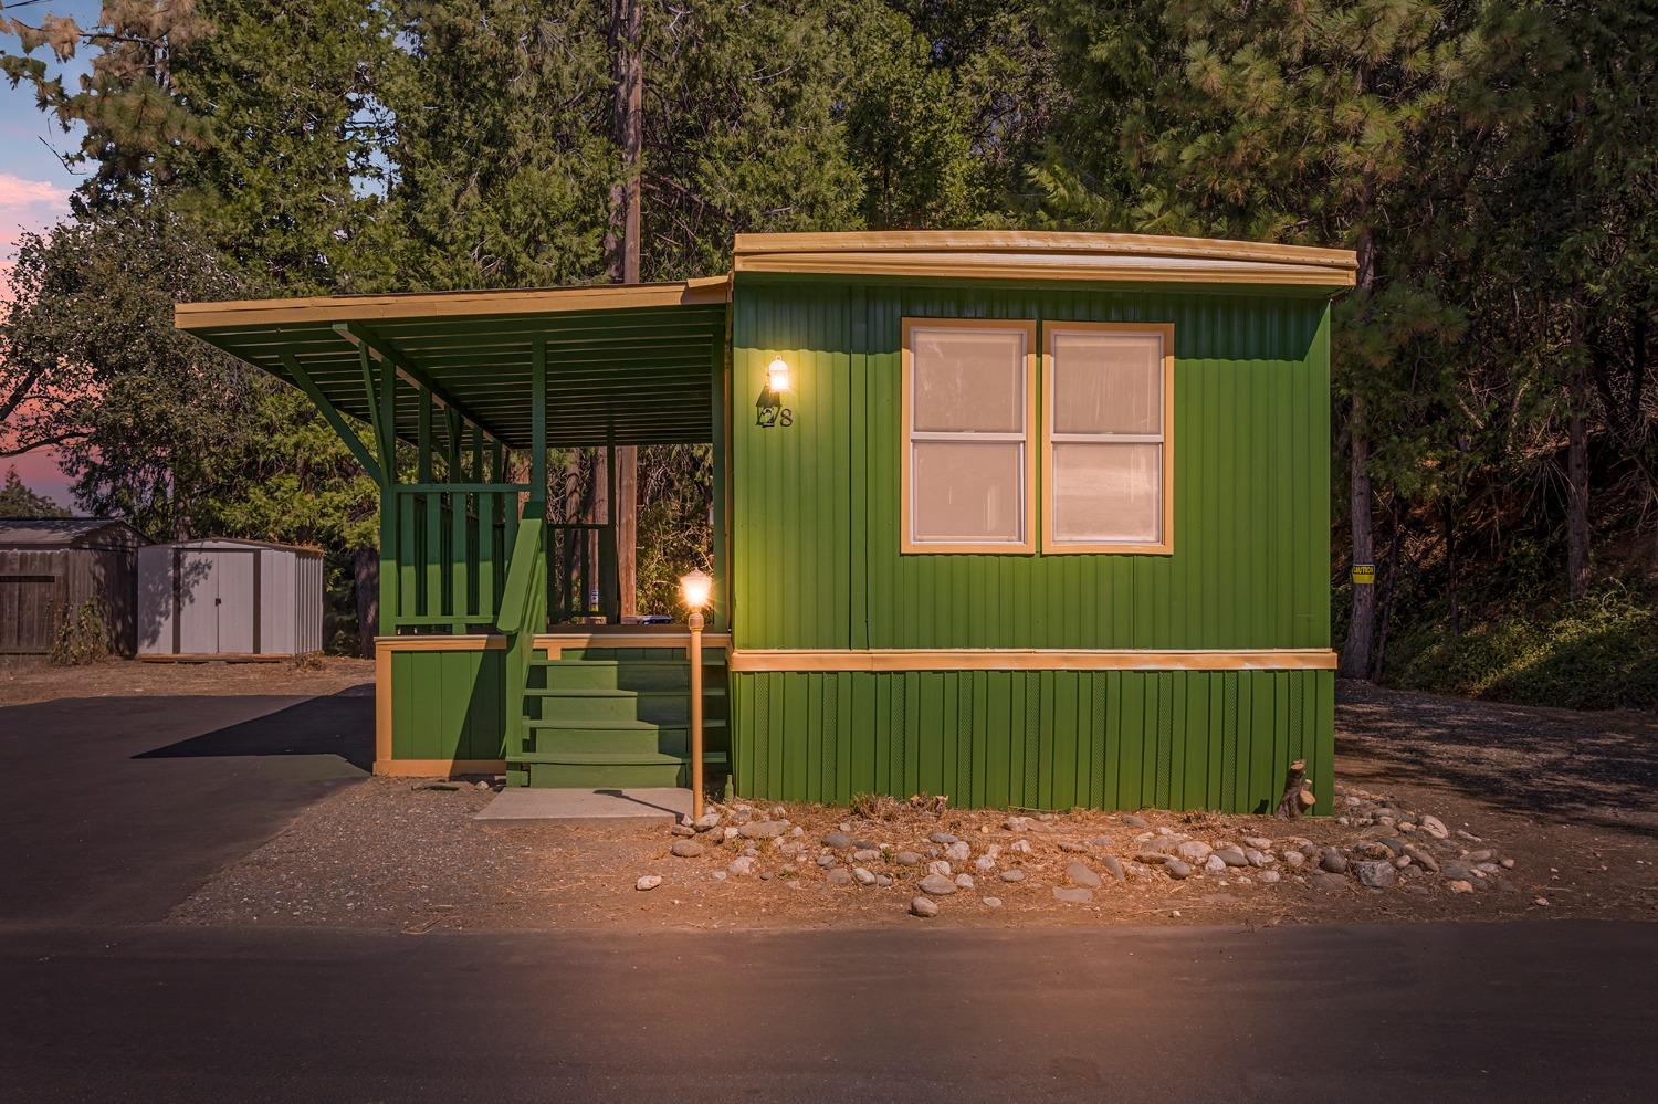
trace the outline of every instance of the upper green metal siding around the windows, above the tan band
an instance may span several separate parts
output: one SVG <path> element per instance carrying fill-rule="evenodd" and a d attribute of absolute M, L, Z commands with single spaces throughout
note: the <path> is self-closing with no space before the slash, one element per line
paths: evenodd
<path fill-rule="evenodd" d="M 904 317 L 1172 322 L 1174 554 L 900 555 Z M 1330 645 L 1323 298 L 739 278 L 733 325 L 734 646 Z"/>

